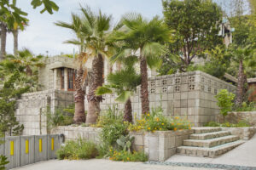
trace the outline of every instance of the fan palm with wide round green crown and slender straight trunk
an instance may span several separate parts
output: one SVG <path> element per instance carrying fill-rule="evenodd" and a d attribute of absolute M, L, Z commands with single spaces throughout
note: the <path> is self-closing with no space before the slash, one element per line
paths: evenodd
<path fill-rule="evenodd" d="M 137 56 L 142 76 L 142 112 L 145 114 L 149 112 L 148 66 L 153 68 L 160 65 L 160 56 L 167 51 L 161 42 L 171 41 L 172 34 L 163 20 L 157 16 L 152 20 L 145 20 L 141 14 L 126 14 L 121 23 L 124 26 L 113 33 L 112 41 L 122 42 L 123 49 L 111 60 L 115 61 L 119 57 L 123 57 L 129 50 L 133 52 L 134 56 Z"/>

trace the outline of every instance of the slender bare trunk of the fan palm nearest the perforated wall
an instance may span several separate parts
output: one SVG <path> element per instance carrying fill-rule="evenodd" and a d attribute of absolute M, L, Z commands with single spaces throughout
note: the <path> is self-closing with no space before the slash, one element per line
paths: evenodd
<path fill-rule="evenodd" d="M 148 100 L 148 68 L 147 61 L 145 57 L 140 57 L 140 69 L 142 75 L 142 85 L 141 85 L 141 99 L 142 99 L 142 109 L 143 114 L 149 113 L 149 100 Z"/>

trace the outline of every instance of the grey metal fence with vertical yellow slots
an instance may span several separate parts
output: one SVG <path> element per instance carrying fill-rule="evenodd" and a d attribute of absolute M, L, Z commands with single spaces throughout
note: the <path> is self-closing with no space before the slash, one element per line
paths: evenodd
<path fill-rule="evenodd" d="M 0 155 L 7 156 L 7 169 L 56 158 L 62 139 L 59 134 L 9 136 L 0 144 Z"/>

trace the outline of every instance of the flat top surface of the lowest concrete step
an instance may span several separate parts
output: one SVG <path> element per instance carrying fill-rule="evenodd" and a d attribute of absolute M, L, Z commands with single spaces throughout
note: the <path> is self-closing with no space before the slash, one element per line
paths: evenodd
<path fill-rule="evenodd" d="M 237 145 L 237 144 L 243 144 L 245 141 L 244 140 L 236 140 L 235 142 L 230 142 L 230 143 L 226 143 L 226 144 L 221 144 L 218 146 L 214 146 L 212 148 L 202 148 L 202 147 L 196 147 L 196 146 L 178 146 L 177 148 L 179 149 L 190 149 L 190 150 L 208 150 L 208 151 L 213 151 L 213 150 L 222 150 L 226 147 L 230 147 L 233 145 Z"/>

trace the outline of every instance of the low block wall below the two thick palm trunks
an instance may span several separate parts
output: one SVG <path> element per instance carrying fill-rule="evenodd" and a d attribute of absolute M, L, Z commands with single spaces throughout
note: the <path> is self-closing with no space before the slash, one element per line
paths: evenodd
<path fill-rule="evenodd" d="M 74 140 L 74 139 L 88 139 L 96 144 L 100 142 L 100 136 L 102 128 L 99 127 L 72 127 L 72 126 L 60 126 L 55 127 L 51 130 L 52 134 L 61 134 L 65 135 L 65 140 Z"/>

